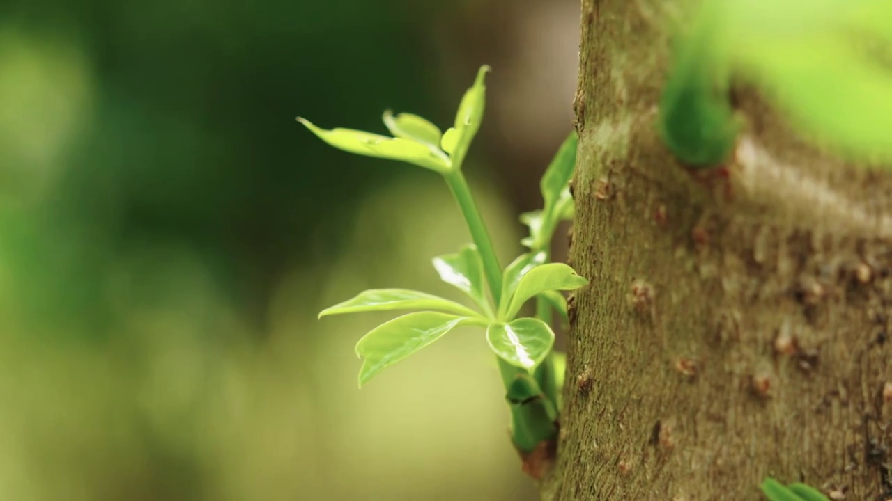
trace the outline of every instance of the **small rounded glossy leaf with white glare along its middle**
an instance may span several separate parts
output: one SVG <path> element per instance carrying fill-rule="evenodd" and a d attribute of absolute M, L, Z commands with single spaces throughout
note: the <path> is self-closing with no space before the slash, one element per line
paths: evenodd
<path fill-rule="evenodd" d="M 508 324 L 490 324 L 486 341 L 502 360 L 529 371 L 549 354 L 555 334 L 538 318 L 517 318 Z"/>

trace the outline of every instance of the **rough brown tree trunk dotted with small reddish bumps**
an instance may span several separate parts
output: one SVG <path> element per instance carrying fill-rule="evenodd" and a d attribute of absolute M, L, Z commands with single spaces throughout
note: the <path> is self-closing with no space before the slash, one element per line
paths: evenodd
<path fill-rule="evenodd" d="M 583 0 L 571 300 L 544 499 L 892 490 L 892 176 L 830 160 L 751 90 L 727 179 L 656 136 L 659 0 Z"/>

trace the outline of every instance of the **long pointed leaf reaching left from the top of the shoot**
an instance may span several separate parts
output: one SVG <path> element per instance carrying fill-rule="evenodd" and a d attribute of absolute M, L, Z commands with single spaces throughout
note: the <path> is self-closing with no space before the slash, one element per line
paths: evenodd
<path fill-rule="evenodd" d="M 316 127 L 309 120 L 300 117 L 297 121 L 309 128 L 319 139 L 344 152 L 405 161 L 437 172 L 446 172 L 450 169 L 450 160 L 445 158 L 442 153 L 438 155 L 429 146 L 417 141 L 401 137 L 380 136 L 351 128 L 326 130 Z"/>

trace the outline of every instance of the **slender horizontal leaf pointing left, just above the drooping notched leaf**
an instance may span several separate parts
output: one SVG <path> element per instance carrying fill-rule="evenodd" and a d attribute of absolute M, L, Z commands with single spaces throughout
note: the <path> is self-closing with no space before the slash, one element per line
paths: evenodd
<path fill-rule="evenodd" d="M 372 289 L 359 292 L 359 295 L 351 300 L 323 309 L 318 317 L 394 309 L 436 309 L 464 316 L 480 316 L 473 309 L 455 301 L 444 300 L 425 292 L 409 291 L 408 289 Z"/>

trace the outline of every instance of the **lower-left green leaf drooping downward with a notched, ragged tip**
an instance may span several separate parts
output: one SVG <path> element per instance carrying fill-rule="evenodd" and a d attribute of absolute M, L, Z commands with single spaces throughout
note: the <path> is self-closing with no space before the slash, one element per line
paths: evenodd
<path fill-rule="evenodd" d="M 459 324 L 466 323 L 474 323 L 474 320 L 434 311 L 417 311 L 378 325 L 356 343 L 356 354 L 363 358 L 362 368 L 359 369 L 359 387 L 384 368 L 437 341 Z"/>

